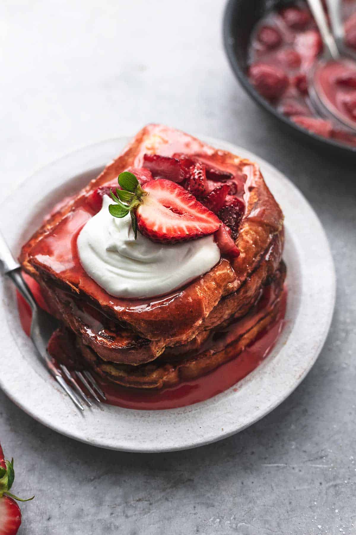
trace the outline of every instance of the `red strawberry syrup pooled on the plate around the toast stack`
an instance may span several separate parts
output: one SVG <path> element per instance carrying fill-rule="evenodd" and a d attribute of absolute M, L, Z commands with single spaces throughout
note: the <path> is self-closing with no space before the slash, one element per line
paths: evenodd
<path fill-rule="evenodd" d="M 41 289 L 37 282 L 26 273 L 24 277 L 38 305 L 46 309 Z M 22 328 L 29 335 L 31 310 L 19 293 L 17 293 L 17 301 Z M 106 394 L 107 403 L 126 409 L 175 409 L 207 400 L 224 392 L 255 370 L 271 352 L 284 326 L 286 306 L 287 290 L 284 289 L 278 314 L 272 324 L 260 332 L 257 338 L 236 358 L 197 379 L 182 381 L 178 385 L 169 388 L 147 392 L 145 389 L 114 385 L 102 380 L 100 377 L 96 377 Z M 59 352 L 62 354 L 62 349 Z"/>

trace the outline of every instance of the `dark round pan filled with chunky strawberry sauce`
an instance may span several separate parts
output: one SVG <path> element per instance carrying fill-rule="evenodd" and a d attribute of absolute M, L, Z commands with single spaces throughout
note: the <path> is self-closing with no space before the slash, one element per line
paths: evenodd
<path fill-rule="evenodd" d="M 356 52 L 356 0 L 344 0 L 342 9 L 345 40 Z M 324 150 L 356 154 L 356 62 L 320 65 L 322 41 L 305 2 L 230 0 L 224 44 L 242 87 L 281 125 Z M 313 104 L 312 73 L 335 118 Z"/>

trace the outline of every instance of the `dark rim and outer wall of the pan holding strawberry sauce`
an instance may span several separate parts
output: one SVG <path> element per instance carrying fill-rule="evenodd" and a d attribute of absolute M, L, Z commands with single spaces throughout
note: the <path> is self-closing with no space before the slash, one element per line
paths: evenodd
<path fill-rule="evenodd" d="M 347 146 L 327 137 L 321 137 L 293 123 L 276 110 L 252 87 L 247 77 L 247 53 L 250 35 L 257 21 L 267 11 L 291 4 L 290 0 L 229 0 L 224 14 L 224 45 L 227 57 L 236 78 L 244 90 L 265 110 L 280 121 L 280 124 L 298 135 L 301 141 L 320 149 L 333 150 L 339 156 L 356 156 L 356 147 Z"/>

